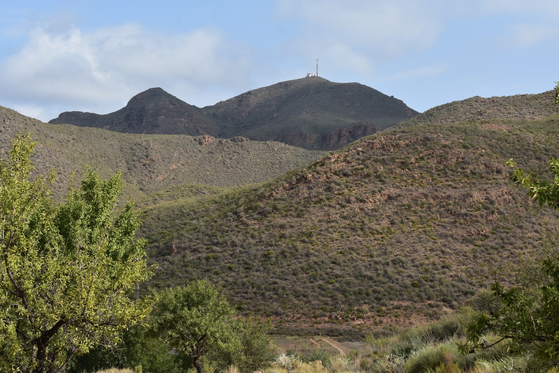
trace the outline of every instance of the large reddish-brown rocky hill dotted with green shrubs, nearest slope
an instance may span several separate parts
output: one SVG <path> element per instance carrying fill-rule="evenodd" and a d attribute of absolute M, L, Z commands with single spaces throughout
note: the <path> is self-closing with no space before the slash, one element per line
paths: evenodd
<path fill-rule="evenodd" d="M 144 207 L 150 285 L 209 278 L 278 327 L 433 317 L 557 232 L 503 161 L 544 172 L 558 135 L 559 116 L 390 130 L 273 181 Z"/>

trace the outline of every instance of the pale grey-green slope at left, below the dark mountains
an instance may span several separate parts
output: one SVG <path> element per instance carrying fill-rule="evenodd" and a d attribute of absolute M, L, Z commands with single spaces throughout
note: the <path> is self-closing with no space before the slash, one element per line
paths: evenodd
<path fill-rule="evenodd" d="M 122 169 L 125 195 L 141 197 L 187 182 L 233 187 L 269 180 L 324 154 L 274 141 L 124 134 L 46 124 L 0 106 L 0 157 L 22 131 L 29 131 L 38 143 L 32 158 L 37 172 L 46 174 L 56 167 L 59 196 L 67 190 L 70 174 L 84 164 L 105 177 Z"/>

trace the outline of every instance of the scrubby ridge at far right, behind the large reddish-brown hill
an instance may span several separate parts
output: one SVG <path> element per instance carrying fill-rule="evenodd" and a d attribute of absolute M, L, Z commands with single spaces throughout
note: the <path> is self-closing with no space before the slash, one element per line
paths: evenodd
<path fill-rule="evenodd" d="M 538 93 L 537 95 L 489 98 L 475 96 L 430 108 L 400 123 L 396 128 L 419 124 L 451 124 L 494 118 L 536 120 L 557 114 L 557 110 L 553 108 L 553 97 L 555 97 L 554 91 Z"/>

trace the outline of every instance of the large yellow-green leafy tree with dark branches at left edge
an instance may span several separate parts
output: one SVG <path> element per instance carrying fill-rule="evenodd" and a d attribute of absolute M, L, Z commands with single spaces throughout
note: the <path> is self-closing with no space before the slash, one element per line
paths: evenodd
<path fill-rule="evenodd" d="M 86 169 L 55 203 L 54 172 L 30 178 L 34 148 L 20 135 L 0 159 L 0 371 L 64 370 L 74 355 L 117 342 L 152 304 L 128 297 L 151 272 L 131 202 L 115 216 L 121 174 L 102 180 Z"/>

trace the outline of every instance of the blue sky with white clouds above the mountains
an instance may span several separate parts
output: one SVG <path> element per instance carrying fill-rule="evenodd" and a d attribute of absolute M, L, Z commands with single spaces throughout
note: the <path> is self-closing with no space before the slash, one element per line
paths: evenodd
<path fill-rule="evenodd" d="M 0 105 L 48 121 L 151 87 L 203 107 L 315 70 L 423 112 L 559 81 L 557 0 L 0 0 Z"/>

